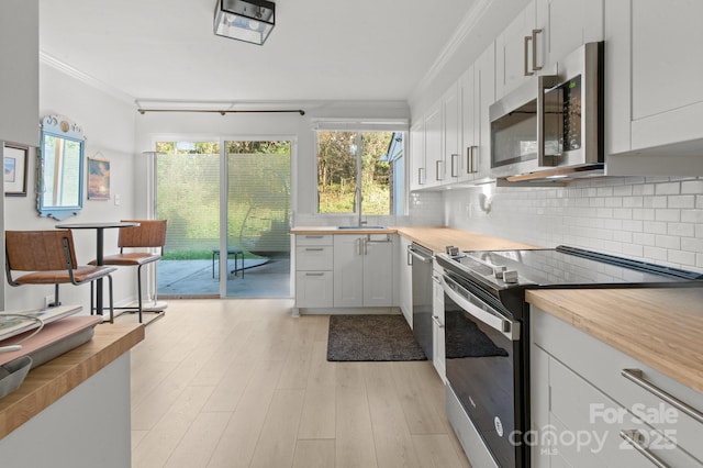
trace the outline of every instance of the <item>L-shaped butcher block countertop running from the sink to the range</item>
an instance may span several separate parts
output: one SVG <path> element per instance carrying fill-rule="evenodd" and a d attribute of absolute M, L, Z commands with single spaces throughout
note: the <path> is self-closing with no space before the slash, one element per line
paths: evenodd
<path fill-rule="evenodd" d="M 433 252 L 445 252 L 447 245 L 459 247 L 459 250 L 510 250 L 518 248 L 539 248 L 521 242 L 507 241 L 486 234 L 453 227 L 388 227 L 384 230 L 339 230 L 330 227 L 295 227 L 291 234 L 400 234 L 403 237 L 422 244 Z"/>

